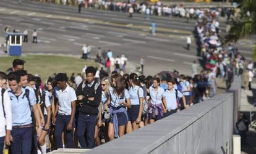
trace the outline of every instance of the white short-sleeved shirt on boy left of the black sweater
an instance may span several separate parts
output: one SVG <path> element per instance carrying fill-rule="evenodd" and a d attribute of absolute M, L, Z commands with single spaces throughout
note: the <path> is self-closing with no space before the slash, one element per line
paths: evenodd
<path fill-rule="evenodd" d="M 77 100 L 77 95 L 75 94 L 75 90 L 67 85 L 66 89 L 62 91 L 59 89 L 56 91 L 56 97 L 59 100 L 59 111 L 58 113 L 61 115 L 71 115 L 71 102 Z"/>

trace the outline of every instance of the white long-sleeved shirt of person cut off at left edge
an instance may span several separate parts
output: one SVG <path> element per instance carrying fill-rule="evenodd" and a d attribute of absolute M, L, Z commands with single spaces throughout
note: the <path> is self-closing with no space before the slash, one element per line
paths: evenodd
<path fill-rule="evenodd" d="M 4 110 L 2 108 L 2 88 L 0 87 L 0 137 L 6 136 L 6 129 L 12 130 L 11 100 L 7 90 L 4 92 Z M 4 118 L 4 111 L 6 118 Z"/>

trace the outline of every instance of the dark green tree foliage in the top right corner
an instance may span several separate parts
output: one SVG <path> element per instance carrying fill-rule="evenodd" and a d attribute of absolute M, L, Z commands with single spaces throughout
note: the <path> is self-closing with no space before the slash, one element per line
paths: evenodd
<path fill-rule="evenodd" d="M 231 22 L 231 30 L 226 41 L 237 41 L 251 34 L 256 34 L 256 0 L 239 0 L 238 8 L 241 13 Z M 256 62 L 256 44 L 252 49 L 252 59 Z"/>

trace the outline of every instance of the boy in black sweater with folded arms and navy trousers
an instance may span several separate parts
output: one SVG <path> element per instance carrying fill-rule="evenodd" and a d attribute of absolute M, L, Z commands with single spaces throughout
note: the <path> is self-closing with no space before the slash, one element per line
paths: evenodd
<path fill-rule="evenodd" d="M 98 107 L 101 101 L 101 86 L 95 80 L 96 69 L 87 67 L 86 81 L 77 87 L 77 102 L 80 105 L 77 121 L 77 137 L 81 148 L 93 148 L 95 143 L 95 124 L 99 113 Z M 101 121 L 98 121 L 101 123 Z M 84 134 L 86 134 L 86 138 Z M 85 140 L 87 142 L 85 142 Z"/>

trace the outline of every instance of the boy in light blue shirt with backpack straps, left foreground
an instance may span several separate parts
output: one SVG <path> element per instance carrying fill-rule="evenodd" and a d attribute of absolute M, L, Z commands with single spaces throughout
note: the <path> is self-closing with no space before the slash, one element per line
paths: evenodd
<path fill-rule="evenodd" d="M 40 124 L 40 113 L 35 103 L 35 95 L 20 85 L 20 74 L 8 74 L 8 83 L 11 90 L 8 93 L 12 105 L 12 153 L 31 153 L 33 125 Z M 36 123 L 32 121 L 32 107 Z M 36 125 L 37 137 L 41 136 L 41 126 Z"/>

